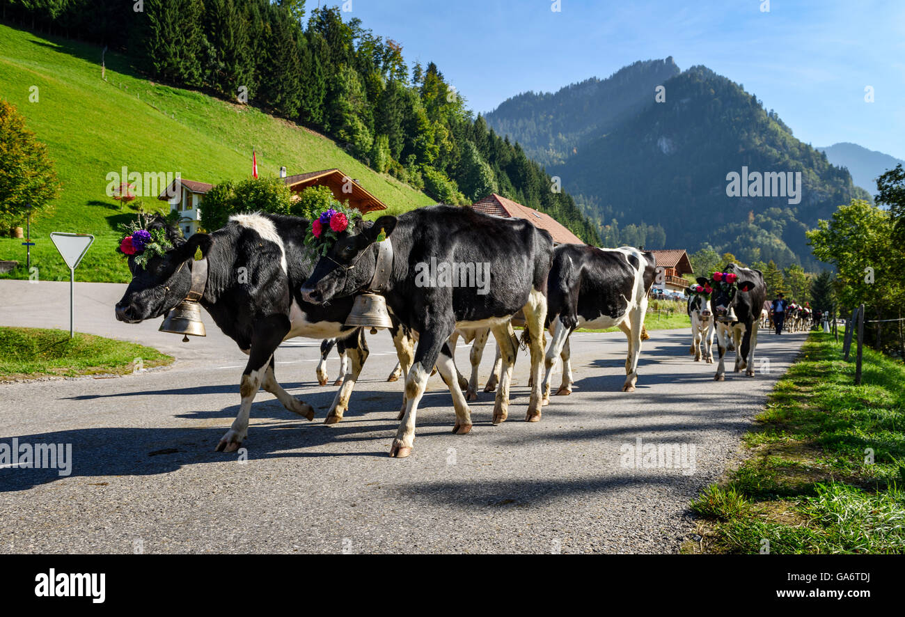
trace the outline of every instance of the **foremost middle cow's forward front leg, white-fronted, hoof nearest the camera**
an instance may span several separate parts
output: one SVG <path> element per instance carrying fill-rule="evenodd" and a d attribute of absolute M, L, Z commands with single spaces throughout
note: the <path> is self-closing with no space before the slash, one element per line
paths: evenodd
<path fill-rule="evenodd" d="M 434 319 L 436 318 L 425 319 L 427 323 L 435 325 L 431 330 L 420 333 L 418 348 L 414 350 L 414 364 L 408 375 L 405 376 L 405 413 L 399 424 L 399 430 L 396 432 L 395 440 L 393 440 L 393 446 L 390 448 L 390 456 L 397 459 L 404 459 L 412 453 L 414 421 L 418 412 L 418 403 L 421 402 L 421 397 L 424 396 L 424 390 L 427 388 L 431 368 L 436 366 L 440 350 L 455 328 L 452 318 L 448 319 L 446 324 L 443 324 L 445 320 L 442 318 L 436 319 L 436 321 Z M 462 395 L 461 392 L 459 394 Z"/>

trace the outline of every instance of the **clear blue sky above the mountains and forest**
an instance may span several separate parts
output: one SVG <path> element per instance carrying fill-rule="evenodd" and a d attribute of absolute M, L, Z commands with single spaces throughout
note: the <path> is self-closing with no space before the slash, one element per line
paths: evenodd
<path fill-rule="evenodd" d="M 905 158 L 902 0 L 771 0 L 768 13 L 762 0 L 351 2 L 347 16 L 402 43 L 410 65 L 436 62 L 475 111 L 672 55 L 744 84 L 814 146 Z"/>

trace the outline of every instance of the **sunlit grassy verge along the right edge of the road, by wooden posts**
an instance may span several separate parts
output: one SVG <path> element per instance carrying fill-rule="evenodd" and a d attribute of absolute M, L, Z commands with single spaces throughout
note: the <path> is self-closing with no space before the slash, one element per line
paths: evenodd
<path fill-rule="evenodd" d="M 905 552 L 905 365 L 865 348 L 856 386 L 842 357 L 830 335 L 808 338 L 748 458 L 691 503 L 703 539 L 683 552 Z"/>

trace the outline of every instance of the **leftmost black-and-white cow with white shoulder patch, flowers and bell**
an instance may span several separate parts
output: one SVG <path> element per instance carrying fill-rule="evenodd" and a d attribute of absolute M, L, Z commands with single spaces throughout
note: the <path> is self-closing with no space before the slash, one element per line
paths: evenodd
<path fill-rule="evenodd" d="M 152 223 L 158 227 L 164 223 Z M 310 222 L 277 214 L 236 214 L 223 229 L 195 233 L 185 240 L 176 228 L 167 229 L 174 248 L 137 268 L 129 258 L 132 280 L 116 305 L 116 318 L 127 323 L 166 314 L 186 298 L 195 268 L 193 255 L 200 248 L 207 261 L 201 305 L 224 334 L 248 354 L 239 393 L 242 404 L 233 426 L 217 451 L 236 451 L 248 433 L 252 401 L 260 388 L 275 394 L 286 409 L 314 419 L 314 409 L 287 393 L 273 375 L 273 352 L 292 337 L 342 338 L 351 361 L 326 422 L 342 419 L 349 395 L 367 358 L 361 328 L 343 325 L 353 298 L 329 306 L 301 299 L 301 283 L 313 270 L 314 257 L 304 245 Z"/>

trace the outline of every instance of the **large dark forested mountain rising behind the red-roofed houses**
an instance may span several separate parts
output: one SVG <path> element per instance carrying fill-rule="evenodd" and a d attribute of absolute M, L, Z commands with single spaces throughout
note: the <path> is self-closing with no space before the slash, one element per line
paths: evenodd
<path fill-rule="evenodd" d="M 656 62 L 636 62 L 626 69 L 655 67 Z M 659 62 L 674 66 L 672 58 Z M 805 231 L 817 219 L 828 218 L 839 204 L 868 196 L 853 185 L 849 172 L 796 139 L 775 112 L 764 109 L 740 84 L 706 67 L 691 67 L 663 81 L 663 102 L 654 100 L 650 81 L 637 81 L 639 90 L 648 89 L 647 96 L 633 99 L 615 115 L 604 112 L 599 120 L 549 119 L 548 100 L 558 100 L 567 109 L 567 100 L 575 98 L 572 93 L 583 92 L 570 86 L 533 99 L 522 122 L 510 112 L 502 122 L 497 111 L 488 115 L 488 122 L 519 143 L 522 135 L 517 128 L 530 128 L 532 120 L 534 129 L 525 135 L 529 144 L 539 144 L 537 136 L 554 130 L 573 136 L 571 152 L 549 164 L 548 172 L 559 176 L 564 189 L 595 219 L 605 245 L 668 246 L 690 252 L 710 245 L 746 262 L 773 260 L 781 267 L 799 263 L 805 270 L 819 269 Z M 608 90 L 605 82 L 595 87 Z M 514 109 L 512 100 L 500 109 Z M 547 120 L 538 124 L 538 119 Z M 800 198 L 788 192 L 747 196 L 748 190 L 729 196 L 734 194 L 731 174 L 740 176 L 746 170 L 757 176 L 790 173 L 793 181 L 800 174 Z M 749 182 L 757 184 L 764 177 L 742 184 L 748 189 Z M 774 183 L 776 179 L 760 186 Z M 757 195 L 757 186 L 752 189 L 750 194 Z"/>

